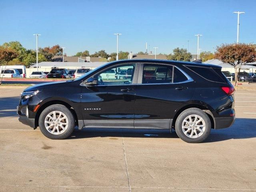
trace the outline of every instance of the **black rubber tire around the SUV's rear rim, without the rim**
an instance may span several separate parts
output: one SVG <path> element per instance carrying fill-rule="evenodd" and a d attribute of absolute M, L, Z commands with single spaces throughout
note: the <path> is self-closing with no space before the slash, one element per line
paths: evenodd
<path fill-rule="evenodd" d="M 190 137 L 186 136 L 186 134 L 182 131 L 182 122 L 189 115 L 201 116 L 205 122 L 205 130 L 197 138 L 190 138 Z M 183 141 L 188 142 L 188 143 L 200 143 L 200 142 L 206 140 L 206 138 L 210 135 L 211 128 L 212 128 L 212 125 L 211 125 L 210 118 L 204 111 L 202 111 L 198 108 L 189 108 L 189 109 L 184 110 L 183 112 L 180 113 L 180 115 L 178 116 L 178 118 L 176 119 L 176 122 L 175 122 L 175 130 L 176 130 L 177 135 Z M 192 132 L 190 132 L 190 133 L 192 133 Z M 198 133 L 200 133 L 200 132 L 198 132 Z M 194 135 L 194 134 L 192 134 L 192 135 Z"/>

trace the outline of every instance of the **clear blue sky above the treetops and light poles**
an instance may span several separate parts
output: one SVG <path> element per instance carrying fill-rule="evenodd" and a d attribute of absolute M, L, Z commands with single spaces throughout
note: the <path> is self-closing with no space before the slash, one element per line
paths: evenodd
<path fill-rule="evenodd" d="M 39 33 L 39 46 L 59 44 L 68 56 L 104 49 L 145 51 L 158 47 L 169 54 L 176 47 L 197 52 L 195 34 L 202 51 L 236 42 L 237 14 L 240 15 L 240 42 L 256 43 L 256 0 L 1 0 L 0 44 L 19 41 L 35 49 L 33 34 Z"/>

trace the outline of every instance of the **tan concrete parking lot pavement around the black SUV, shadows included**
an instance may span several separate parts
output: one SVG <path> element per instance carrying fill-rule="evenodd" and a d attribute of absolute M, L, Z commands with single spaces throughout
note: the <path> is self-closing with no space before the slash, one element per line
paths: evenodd
<path fill-rule="evenodd" d="M 148 130 L 85 129 L 50 140 L 18 122 L 23 89 L 0 88 L 0 191 L 256 191 L 256 90 L 236 91 L 231 128 L 188 144 Z"/>

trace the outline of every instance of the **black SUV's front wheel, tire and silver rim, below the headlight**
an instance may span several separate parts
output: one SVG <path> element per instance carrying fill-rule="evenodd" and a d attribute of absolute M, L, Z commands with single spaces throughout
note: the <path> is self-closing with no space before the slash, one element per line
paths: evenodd
<path fill-rule="evenodd" d="M 75 118 L 66 106 L 54 104 L 42 111 L 38 124 L 44 136 L 65 139 L 74 131 Z"/>

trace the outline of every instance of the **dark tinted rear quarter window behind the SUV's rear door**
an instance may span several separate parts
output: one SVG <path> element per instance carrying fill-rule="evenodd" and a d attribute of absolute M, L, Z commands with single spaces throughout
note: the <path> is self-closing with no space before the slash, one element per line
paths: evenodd
<path fill-rule="evenodd" d="M 198 66 L 186 66 L 199 76 L 205 78 L 206 80 L 209 81 L 214 81 L 214 82 L 220 82 L 220 83 L 225 83 L 226 81 L 224 80 L 222 76 L 224 74 L 221 72 L 221 69 L 213 69 L 213 68 L 208 68 L 208 67 L 198 67 Z M 218 70 L 220 73 L 218 73 Z"/>

